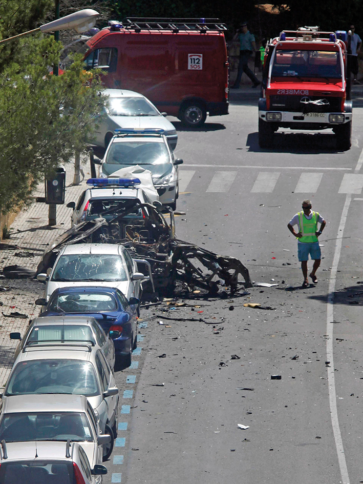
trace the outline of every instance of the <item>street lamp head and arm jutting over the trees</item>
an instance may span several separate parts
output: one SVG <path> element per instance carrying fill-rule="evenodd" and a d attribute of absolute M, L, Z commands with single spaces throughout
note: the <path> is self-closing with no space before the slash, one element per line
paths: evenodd
<path fill-rule="evenodd" d="M 86 8 L 84 10 L 79 10 L 78 12 L 71 13 L 65 17 L 57 18 L 53 22 L 41 25 L 37 29 L 28 30 L 28 32 L 23 32 L 22 34 L 14 35 L 13 37 L 4 38 L 0 41 L 0 44 L 4 42 L 11 41 L 13 38 L 21 37 L 22 35 L 27 35 L 33 32 L 56 32 L 58 30 L 72 30 L 75 29 L 78 33 L 87 32 L 92 29 L 96 24 L 96 19 L 99 13 L 92 8 Z"/>

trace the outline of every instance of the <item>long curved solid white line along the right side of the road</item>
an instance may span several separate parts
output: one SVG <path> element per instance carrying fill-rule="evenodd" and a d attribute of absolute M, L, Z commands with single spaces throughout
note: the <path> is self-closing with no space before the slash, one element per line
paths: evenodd
<path fill-rule="evenodd" d="M 338 237 L 340 238 L 337 238 L 336 240 L 334 259 L 333 259 L 333 264 L 330 271 L 329 295 L 328 295 L 328 302 L 327 302 L 327 329 L 326 329 L 326 334 L 328 335 L 327 345 L 326 345 L 327 361 L 330 361 L 330 368 L 327 367 L 330 418 L 331 418 L 332 427 L 333 427 L 335 447 L 338 455 L 338 462 L 339 462 L 342 484 L 349 484 L 349 475 L 348 475 L 347 462 L 344 454 L 343 441 L 341 439 L 339 420 L 338 420 L 338 411 L 336 406 L 336 390 L 335 390 L 335 375 L 334 375 L 334 360 L 333 360 L 334 325 L 332 324 L 332 322 L 334 321 L 334 292 L 335 292 L 335 284 L 336 284 L 336 273 L 337 273 L 338 264 L 339 264 L 341 245 L 343 244 L 343 238 L 342 238 L 343 232 L 346 225 L 346 220 L 347 220 L 348 210 L 349 210 L 351 200 L 352 200 L 352 196 L 347 195 L 343 212 L 341 213 L 341 217 L 340 217 L 340 224 L 339 224 L 338 234 L 337 234 Z"/>

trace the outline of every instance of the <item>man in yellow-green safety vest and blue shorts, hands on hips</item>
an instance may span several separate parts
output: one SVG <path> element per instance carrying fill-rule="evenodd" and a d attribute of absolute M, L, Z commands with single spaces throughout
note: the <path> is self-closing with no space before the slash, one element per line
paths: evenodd
<path fill-rule="evenodd" d="M 324 230 L 326 226 L 326 221 L 317 212 L 311 210 L 311 201 L 304 200 L 303 211 L 296 213 L 292 219 L 287 224 L 288 229 L 297 237 L 297 256 L 298 260 L 301 261 L 301 269 L 304 275 L 303 287 L 309 286 L 308 281 L 308 259 L 309 254 L 312 259 L 314 259 L 313 269 L 310 273 L 311 280 L 314 284 L 317 283 L 317 278 L 315 272 L 320 266 L 322 259 L 322 251 L 319 247 L 318 236 Z M 317 230 L 317 224 L 320 223 L 320 230 Z M 298 226 L 298 232 L 296 233 L 293 227 Z"/>

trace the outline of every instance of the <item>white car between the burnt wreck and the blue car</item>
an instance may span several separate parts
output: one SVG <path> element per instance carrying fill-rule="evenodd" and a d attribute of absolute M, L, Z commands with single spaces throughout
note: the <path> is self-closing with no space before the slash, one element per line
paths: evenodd
<path fill-rule="evenodd" d="M 140 299 L 145 276 L 137 272 L 135 261 L 121 244 L 70 244 L 60 251 L 49 277 L 38 274 L 37 279 L 46 281 L 48 302 L 57 288 L 96 284 L 116 287 L 127 299 Z"/>

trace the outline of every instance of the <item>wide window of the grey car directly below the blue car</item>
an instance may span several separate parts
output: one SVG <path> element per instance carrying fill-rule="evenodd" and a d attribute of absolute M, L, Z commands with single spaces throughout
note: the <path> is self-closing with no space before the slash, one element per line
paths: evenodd
<path fill-rule="evenodd" d="M 72 302 L 70 301 L 70 304 Z M 92 341 L 94 344 L 97 343 L 91 328 L 85 325 L 36 326 L 30 332 L 27 345 L 34 346 L 42 341 Z"/>

